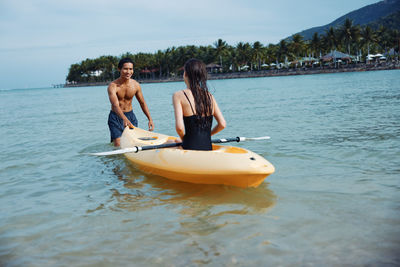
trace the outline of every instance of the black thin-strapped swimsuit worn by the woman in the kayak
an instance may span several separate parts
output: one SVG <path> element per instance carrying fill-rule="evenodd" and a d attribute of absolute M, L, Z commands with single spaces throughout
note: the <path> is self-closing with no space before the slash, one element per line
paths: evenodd
<path fill-rule="evenodd" d="M 193 115 L 183 116 L 183 122 L 185 123 L 185 136 L 183 137 L 182 148 L 189 150 L 212 150 L 211 125 L 213 116 L 203 118 L 206 120 L 206 126 L 202 127 L 201 123 L 199 123 L 199 116 L 195 115 L 192 103 L 190 103 L 186 93 L 183 93 L 189 101 Z"/>

